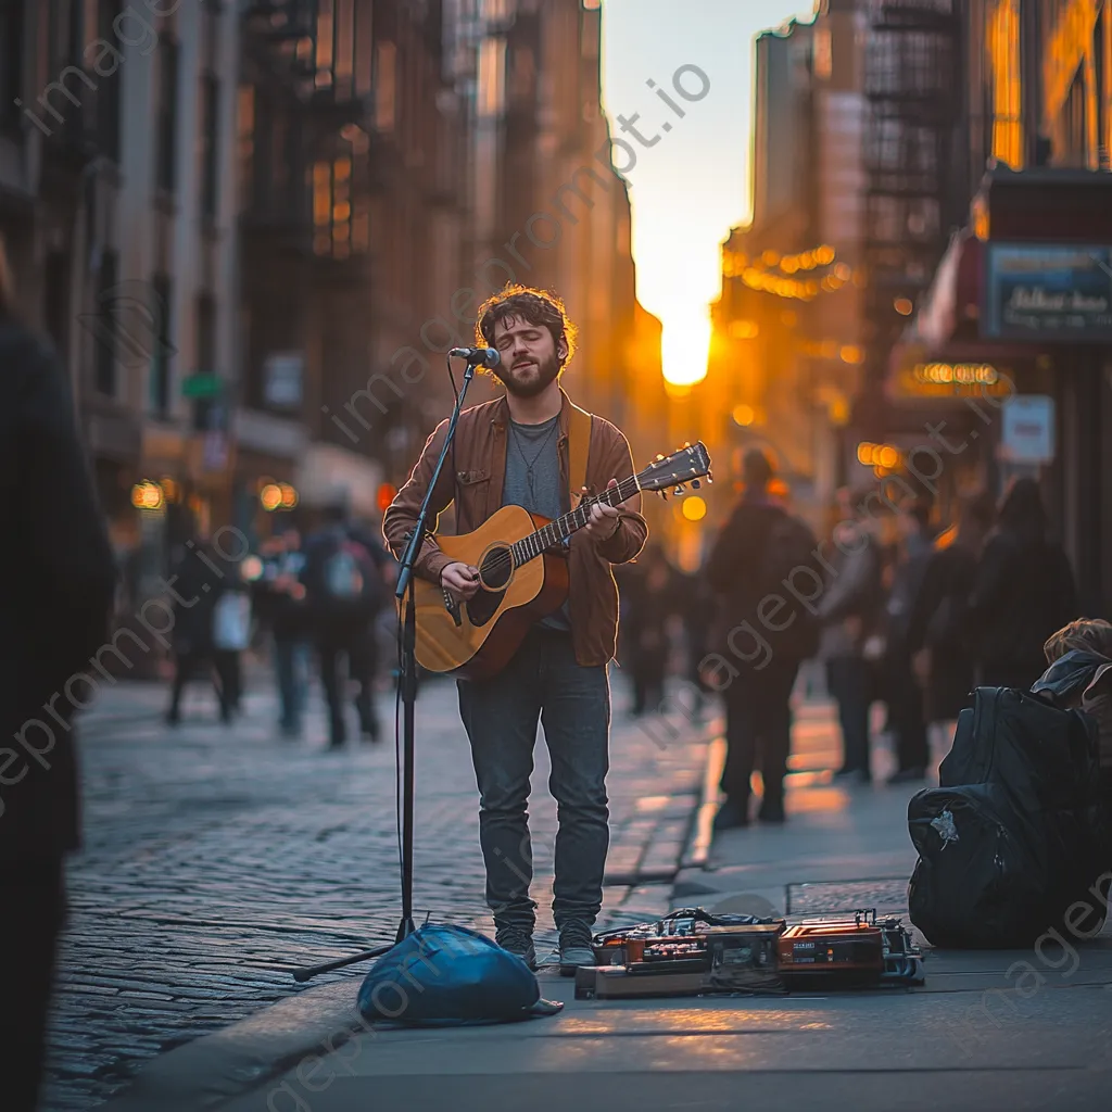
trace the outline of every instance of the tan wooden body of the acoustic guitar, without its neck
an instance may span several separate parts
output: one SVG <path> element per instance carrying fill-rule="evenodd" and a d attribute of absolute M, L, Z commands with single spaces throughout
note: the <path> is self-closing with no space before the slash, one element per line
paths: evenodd
<path fill-rule="evenodd" d="M 500 672 L 529 628 L 567 598 L 568 565 L 547 553 L 512 566 L 509 546 L 548 524 L 520 506 L 503 506 L 474 533 L 438 536 L 453 560 L 479 569 L 483 586 L 459 604 L 460 624 L 449 613 L 439 584 L 415 576 L 417 663 L 428 672 L 486 679 Z"/>

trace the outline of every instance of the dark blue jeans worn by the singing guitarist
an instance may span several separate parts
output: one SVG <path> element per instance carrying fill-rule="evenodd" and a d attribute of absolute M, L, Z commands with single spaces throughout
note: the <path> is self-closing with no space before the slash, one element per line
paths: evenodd
<path fill-rule="evenodd" d="M 533 851 L 526 805 L 537 723 L 552 759 L 558 805 L 553 917 L 590 926 L 603 905 L 609 847 L 606 773 L 610 688 L 605 665 L 582 667 L 572 636 L 534 627 L 492 679 L 459 681 L 459 714 L 479 788 L 479 843 L 495 925 L 533 929 Z"/>

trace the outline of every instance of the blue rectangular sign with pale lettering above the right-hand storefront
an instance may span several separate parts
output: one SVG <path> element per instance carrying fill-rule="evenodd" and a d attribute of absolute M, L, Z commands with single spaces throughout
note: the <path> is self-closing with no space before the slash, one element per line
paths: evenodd
<path fill-rule="evenodd" d="M 1051 342 L 1112 340 L 1112 247 L 985 245 L 982 334 Z"/>

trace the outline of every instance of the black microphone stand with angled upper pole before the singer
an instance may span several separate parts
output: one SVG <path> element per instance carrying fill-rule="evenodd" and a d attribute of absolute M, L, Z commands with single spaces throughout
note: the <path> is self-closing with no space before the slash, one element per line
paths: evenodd
<path fill-rule="evenodd" d="M 479 354 L 481 353 L 481 354 Z M 479 349 L 467 358 L 467 368 L 464 370 L 464 383 L 456 398 L 456 406 L 451 411 L 448 421 L 448 434 L 444 438 L 444 446 L 440 448 L 440 458 L 436 461 L 433 477 L 429 480 L 428 489 L 417 513 L 417 520 L 409 533 L 406 548 L 401 554 L 398 567 L 398 582 L 394 589 L 394 596 L 400 603 L 405 598 L 405 612 L 401 626 L 401 669 L 399 684 L 401 686 L 401 741 L 403 741 L 403 791 L 401 791 L 401 922 L 398 924 L 397 935 L 394 942 L 386 946 L 378 946 L 374 950 L 364 950 L 351 957 L 341 957 L 335 962 L 325 962 L 321 965 L 310 965 L 305 969 L 294 971 L 294 980 L 304 983 L 321 973 L 331 973 L 335 970 L 344 969 L 347 965 L 355 965 L 357 962 L 367 961 L 370 957 L 381 957 L 388 953 L 399 942 L 414 933 L 414 724 L 416 718 L 417 703 L 417 609 L 414 600 L 414 564 L 417 555 L 425 544 L 428 534 L 429 505 L 433 502 L 433 492 L 436 490 L 444 470 L 444 464 L 451 450 L 453 440 L 456 437 L 456 425 L 459 421 L 459 413 L 464 407 L 464 398 L 467 395 L 467 387 L 475 377 L 475 367 L 483 361 L 485 349 Z"/>

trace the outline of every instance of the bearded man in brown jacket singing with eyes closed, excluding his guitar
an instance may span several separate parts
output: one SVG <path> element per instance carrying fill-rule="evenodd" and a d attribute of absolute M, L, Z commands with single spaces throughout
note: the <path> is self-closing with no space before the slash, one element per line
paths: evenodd
<path fill-rule="evenodd" d="M 431 512 L 455 500 L 456 528 L 468 533 L 503 506 L 546 518 L 573 506 L 569 430 L 585 426 L 560 387 L 575 350 L 575 327 L 552 294 L 507 286 L 479 308 L 476 344 L 497 348 L 494 374 L 504 396 L 460 414 L 450 469 L 434 493 Z M 400 557 L 417 520 L 447 433 L 441 421 L 383 519 Z M 629 445 L 600 417 L 589 418 L 586 486 L 592 493 L 634 474 Z M 582 450 L 582 446 L 580 446 Z M 574 451 L 570 458 L 574 458 Z M 471 746 L 479 790 L 479 841 L 486 900 L 498 944 L 536 966 L 536 904 L 529 898 L 533 854 L 526 806 L 537 722 L 552 759 L 549 786 L 559 806 L 553 916 L 562 971 L 593 965 L 592 926 L 603 901 L 609 844 L 606 773 L 610 722 L 607 664 L 617 639 L 618 595 L 610 566 L 634 559 L 647 526 L 641 494 L 620 506 L 593 505 L 586 526 L 567 543 L 569 589 L 555 613 L 530 628 L 497 675 L 459 679 L 459 712 Z M 441 584 L 458 600 L 479 589 L 478 568 L 453 563 L 429 537 L 415 573 Z"/>

